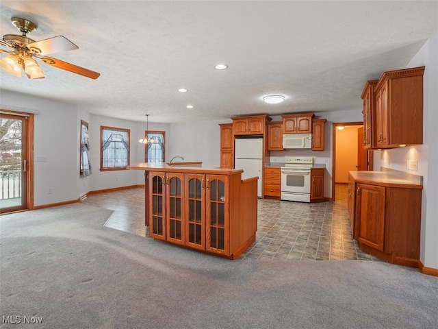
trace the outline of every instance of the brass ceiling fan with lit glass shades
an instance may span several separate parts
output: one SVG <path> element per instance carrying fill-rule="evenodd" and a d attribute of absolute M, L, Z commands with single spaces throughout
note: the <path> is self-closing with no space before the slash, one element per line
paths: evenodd
<path fill-rule="evenodd" d="M 3 40 L 0 40 L 0 45 L 12 49 L 12 51 L 0 49 L 0 53 L 8 53 L 8 56 L 0 60 L 0 67 L 6 72 L 16 77 L 21 77 L 21 71 L 24 69 L 29 79 L 44 78 L 44 73 L 42 73 L 40 66 L 38 66 L 38 62 L 34 60 L 34 58 L 37 58 L 45 64 L 54 66 L 57 69 L 83 75 L 84 77 L 90 77 L 91 79 L 97 79 L 99 75 L 101 75 L 100 73 L 84 69 L 81 66 L 45 56 L 60 51 L 79 49 L 77 45 L 67 38 L 64 38 L 64 36 L 55 36 L 53 38 L 34 41 L 31 38 L 27 38 L 27 34 L 36 30 L 37 26 L 35 23 L 19 17 L 12 17 L 11 21 L 22 34 L 21 36 L 17 34 L 5 34 Z"/>

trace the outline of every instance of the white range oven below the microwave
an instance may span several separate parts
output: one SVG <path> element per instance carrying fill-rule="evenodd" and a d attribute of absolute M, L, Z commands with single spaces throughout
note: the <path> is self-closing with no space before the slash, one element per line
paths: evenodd
<path fill-rule="evenodd" d="M 281 199 L 310 202 L 311 156 L 287 156 L 285 167 L 281 167 Z"/>

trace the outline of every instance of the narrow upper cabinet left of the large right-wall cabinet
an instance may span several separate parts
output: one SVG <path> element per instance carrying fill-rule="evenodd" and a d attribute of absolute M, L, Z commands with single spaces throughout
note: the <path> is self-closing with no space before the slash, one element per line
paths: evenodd
<path fill-rule="evenodd" d="M 378 80 L 367 81 L 363 88 L 363 148 L 372 149 L 376 147 L 376 97 L 374 88 Z"/>

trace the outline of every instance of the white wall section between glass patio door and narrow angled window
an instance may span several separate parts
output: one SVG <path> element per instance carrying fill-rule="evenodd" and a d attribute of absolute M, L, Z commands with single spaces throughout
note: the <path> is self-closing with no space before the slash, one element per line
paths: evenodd
<path fill-rule="evenodd" d="M 45 160 L 34 162 L 34 205 L 77 199 L 77 106 L 1 90 L 1 108 L 36 114 L 34 158 Z"/>

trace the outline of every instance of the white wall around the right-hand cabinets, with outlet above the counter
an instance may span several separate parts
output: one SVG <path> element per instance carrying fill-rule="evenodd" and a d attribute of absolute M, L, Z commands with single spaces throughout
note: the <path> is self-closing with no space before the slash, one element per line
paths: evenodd
<path fill-rule="evenodd" d="M 381 166 L 424 177 L 420 260 L 438 268 L 438 38 L 428 40 L 406 68 L 426 66 L 424 84 L 423 145 L 381 151 Z M 378 154 L 376 153 L 376 156 Z M 417 160 L 418 171 L 406 169 L 406 161 Z"/>

